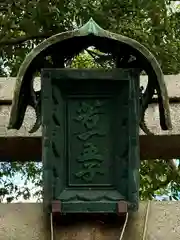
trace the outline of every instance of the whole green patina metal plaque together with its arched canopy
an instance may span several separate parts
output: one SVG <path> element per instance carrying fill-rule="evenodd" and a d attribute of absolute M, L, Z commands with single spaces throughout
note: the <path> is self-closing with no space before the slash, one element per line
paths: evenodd
<path fill-rule="evenodd" d="M 67 62 L 89 46 L 108 54 L 115 69 L 67 69 Z M 41 90 L 36 92 L 33 79 L 42 69 Z M 143 70 L 148 84 L 140 94 Z M 31 132 L 42 120 L 46 207 L 57 200 L 64 213 L 115 213 L 125 201 L 129 210 L 138 209 L 139 126 L 149 134 L 144 114 L 155 90 L 160 125 L 171 129 L 167 89 L 155 57 L 92 18 L 28 54 L 18 72 L 9 128 L 21 127 L 28 105 L 37 115 Z"/>

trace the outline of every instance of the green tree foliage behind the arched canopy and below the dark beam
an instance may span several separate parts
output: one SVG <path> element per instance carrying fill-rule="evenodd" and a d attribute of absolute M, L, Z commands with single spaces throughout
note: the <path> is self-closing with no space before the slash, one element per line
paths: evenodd
<path fill-rule="evenodd" d="M 172 11 L 168 0 L 6 0 L 0 6 L 0 76 L 16 76 L 27 53 L 39 42 L 80 27 L 90 17 L 103 28 L 145 45 L 156 56 L 164 74 L 179 72 L 180 13 Z M 88 67 L 91 61 L 87 60 L 87 55 L 78 56 L 73 66 L 82 66 L 83 62 Z M 10 182 L 18 172 L 25 177 L 24 192 Z M 141 198 L 162 194 L 167 183 L 176 197 L 179 177 L 171 172 L 163 160 L 142 162 Z M 28 180 L 41 185 L 41 169 L 34 163 L 2 163 L 0 176 L 2 198 L 13 191 L 17 197 L 30 197 Z"/>

